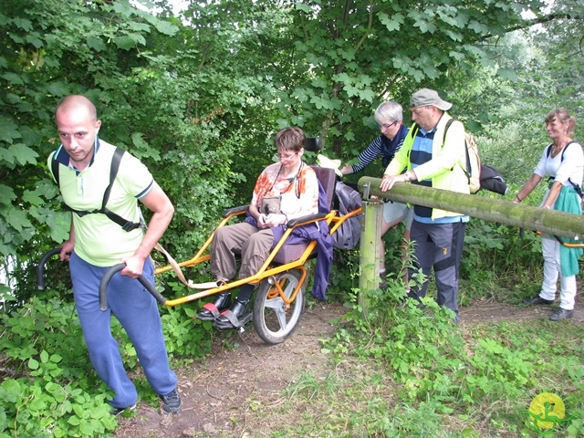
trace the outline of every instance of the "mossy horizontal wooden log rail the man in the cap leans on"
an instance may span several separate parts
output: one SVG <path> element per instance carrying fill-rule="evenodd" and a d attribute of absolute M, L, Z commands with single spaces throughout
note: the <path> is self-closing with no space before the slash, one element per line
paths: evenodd
<path fill-rule="evenodd" d="M 525 203 L 512 203 L 502 199 L 486 198 L 474 194 L 454 193 L 447 190 L 422 187 L 411 183 L 396 183 L 390 191 L 382 192 L 381 179 L 364 176 L 359 180 L 360 193 L 382 196 L 401 203 L 412 203 L 440 208 L 449 212 L 526 228 L 529 230 L 582 240 L 584 218 L 543 209 Z"/>

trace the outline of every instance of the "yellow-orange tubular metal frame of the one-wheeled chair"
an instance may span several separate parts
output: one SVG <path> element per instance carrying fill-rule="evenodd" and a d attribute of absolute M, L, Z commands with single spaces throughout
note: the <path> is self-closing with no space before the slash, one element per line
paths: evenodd
<path fill-rule="evenodd" d="M 208 261 L 210 259 L 210 255 L 205 254 L 205 251 L 211 245 L 215 231 L 218 228 L 221 228 L 222 226 L 225 226 L 226 224 L 228 224 L 229 221 L 233 217 L 238 216 L 240 214 L 245 214 L 246 211 L 247 211 L 246 207 L 237 207 L 235 209 L 230 210 L 229 212 L 232 212 L 232 213 L 228 213 L 225 215 L 224 219 L 217 225 L 214 232 L 207 238 L 207 240 L 204 242 L 201 249 L 193 256 L 193 258 L 191 258 L 190 260 L 186 260 L 184 262 L 179 263 L 178 266 L 180 266 L 180 267 L 193 267 L 193 266 L 197 266 L 203 262 Z M 304 250 L 304 252 L 302 253 L 302 255 L 300 256 L 300 258 L 298 258 L 297 260 L 295 260 L 293 262 L 289 262 L 289 263 L 284 264 L 284 265 L 274 265 L 273 266 L 272 261 L 274 260 L 274 257 L 276 257 L 280 248 L 286 244 L 288 236 L 298 226 L 303 226 L 306 224 L 311 224 L 313 222 L 318 222 L 318 221 L 322 221 L 322 220 L 327 221 L 327 224 L 329 226 L 329 234 L 332 235 L 333 233 L 335 233 L 337 231 L 339 226 L 344 221 L 349 219 L 349 217 L 360 214 L 360 212 L 361 212 L 361 209 L 358 209 L 358 210 L 355 210 L 353 212 L 350 212 L 349 214 L 339 216 L 336 210 L 332 210 L 326 216 L 319 217 L 318 219 L 312 219 L 312 220 L 307 220 L 307 221 L 300 220 L 300 222 L 298 222 L 294 227 L 287 228 L 287 230 L 284 232 L 284 235 L 282 235 L 282 238 L 278 241 L 278 243 L 276 244 L 274 249 L 272 249 L 270 254 L 267 256 L 266 261 L 264 262 L 264 265 L 262 265 L 262 267 L 260 267 L 259 271 L 254 276 L 248 276 L 246 278 L 241 278 L 239 280 L 235 280 L 235 281 L 232 281 L 229 283 L 224 283 L 221 286 L 213 287 L 213 288 L 207 289 L 207 290 L 203 290 L 203 291 L 188 295 L 186 297 L 167 299 L 164 302 L 164 306 L 167 306 L 167 307 L 178 306 L 178 305 L 181 305 L 184 303 L 188 303 L 190 301 L 194 301 L 195 299 L 210 297 L 212 295 L 224 292 L 226 290 L 230 290 L 230 289 L 233 289 L 235 287 L 240 287 L 240 286 L 245 285 L 247 283 L 259 283 L 262 280 L 264 280 L 270 276 L 276 277 L 278 274 L 289 271 L 290 269 L 299 269 L 301 272 L 300 280 L 298 281 L 297 287 L 295 288 L 294 292 L 292 293 L 292 295 L 289 298 L 286 297 L 286 295 L 284 294 L 284 290 L 282 289 L 282 285 L 280 283 L 278 283 L 276 281 L 276 279 L 274 278 L 274 286 L 275 286 L 275 289 L 277 291 L 277 294 L 286 303 L 286 306 L 288 308 L 290 306 L 290 304 L 296 299 L 297 293 L 300 290 L 300 287 L 302 287 L 302 285 L 304 284 L 304 281 L 305 281 L 306 276 L 307 276 L 307 270 L 304 267 L 304 264 L 308 260 L 308 257 L 312 254 L 312 251 L 314 250 L 315 246 L 317 245 L 316 241 L 310 242 L 308 244 L 308 246 L 306 247 L 306 249 Z M 157 268 L 154 271 L 154 274 L 162 274 L 164 272 L 168 272 L 171 270 L 172 270 L 172 266 L 163 266 L 163 267 Z M 272 293 L 272 295 L 270 297 L 276 297 L 276 295 L 274 295 L 274 292 Z"/>

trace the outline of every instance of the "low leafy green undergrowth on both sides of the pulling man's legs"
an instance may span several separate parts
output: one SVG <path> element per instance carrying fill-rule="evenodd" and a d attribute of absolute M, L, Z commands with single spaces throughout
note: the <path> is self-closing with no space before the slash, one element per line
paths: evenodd
<path fill-rule="evenodd" d="M 182 284 L 169 285 L 185 295 Z M 0 314 L 0 437 L 95 437 L 116 428 L 107 402 L 112 394 L 91 366 L 74 304 L 59 295 L 51 289 Z M 161 310 L 174 360 L 193 360 L 211 349 L 211 324 L 194 319 L 199 308 Z M 115 318 L 112 333 L 126 370 L 137 375 L 141 398 L 157 402 L 151 387 L 141 381 L 136 350 Z"/>

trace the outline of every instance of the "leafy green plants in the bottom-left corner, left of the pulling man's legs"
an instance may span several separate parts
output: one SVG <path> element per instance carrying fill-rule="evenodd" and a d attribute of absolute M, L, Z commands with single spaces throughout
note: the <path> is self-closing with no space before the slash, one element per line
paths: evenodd
<path fill-rule="evenodd" d="M 72 303 L 33 298 L 0 315 L 0 436 L 100 436 L 116 427 Z"/>

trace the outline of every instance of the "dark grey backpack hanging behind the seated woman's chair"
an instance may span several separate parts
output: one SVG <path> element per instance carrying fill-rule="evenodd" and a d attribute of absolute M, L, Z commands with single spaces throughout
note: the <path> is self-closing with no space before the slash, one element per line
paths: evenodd
<path fill-rule="evenodd" d="M 334 208 L 339 216 L 361 208 L 360 193 L 349 185 L 340 181 L 335 185 Z M 332 245 L 339 249 L 353 249 L 359 242 L 361 235 L 361 214 L 355 214 L 345 220 L 332 235 Z"/>

